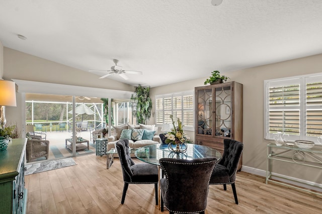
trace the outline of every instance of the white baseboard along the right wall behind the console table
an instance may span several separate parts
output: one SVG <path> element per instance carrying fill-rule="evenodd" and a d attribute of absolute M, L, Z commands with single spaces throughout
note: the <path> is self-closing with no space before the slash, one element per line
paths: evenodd
<path fill-rule="evenodd" d="M 251 174 L 256 174 L 258 176 L 263 176 L 264 177 L 263 179 L 266 180 L 266 170 L 252 168 L 249 166 L 243 166 L 241 167 L 241 171 L 245 171 Z M 285 177 L 285 178 L 282 178 L 282 177 Z M 320 183 L 315 183 L 312 181 L 303 180 L 296 177 L 290 177 L 290 176 L 286 176 L 278 173 L 272 173 L 271 179 L 322 192 L 322 184 Z"/>

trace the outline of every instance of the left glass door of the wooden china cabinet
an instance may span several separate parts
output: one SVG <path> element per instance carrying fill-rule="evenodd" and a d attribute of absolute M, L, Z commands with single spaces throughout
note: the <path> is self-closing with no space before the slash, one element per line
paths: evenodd
<path fill-rule="evenodd" d="M 212 89 L 198 90 L 198 134 L 212 135 Z"/>

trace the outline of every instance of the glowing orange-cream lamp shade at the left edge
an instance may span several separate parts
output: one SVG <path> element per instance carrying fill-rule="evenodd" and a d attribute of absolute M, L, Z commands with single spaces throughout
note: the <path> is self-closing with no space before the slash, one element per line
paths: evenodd
<path fill-rule="evenodd" d="M 17 106 L 15 82 L 0 80 L 0 105 Z"/>

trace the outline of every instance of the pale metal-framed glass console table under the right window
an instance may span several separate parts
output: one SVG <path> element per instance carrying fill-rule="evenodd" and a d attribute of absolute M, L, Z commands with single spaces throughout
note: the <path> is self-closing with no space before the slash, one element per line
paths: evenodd
<path fill-rule="evenodd" d="M 286 145 L 277 146 L 275 143 L 269 143 L 267 144 L 267 169 L 266 169 L 266 184 L 268 182 L 275 182 L 289 187 L 297 188 L 303 191 L 322 195 L 322 193 L 320 192 L 312 191 L 310 189 L 301 188 L 298 186 L 294 186 L 291 184 L 287 184 L 285 182 L 280 182 L 278 180 L 272 179 L 272 166 L 273 166 L 272 160 L 278 160 L 278 161 L 288 162 L 292 164 L 299 164 L 299 165 L 304 165 L 308 167 L 322 168 L 322 145 L 315 145 L 311 149 L 301 149 L 296 145 L 289 147 Z M 294 182 L 300 182 L 299 180 L 295 180 L 290 177 L 283 176 L 281 174 L 273 174 L 273 176 L 294 181 Z M 307 183 L 307 182 L 300 182 L 300 183 L 321 188 L 321 186 L 318 186 L 312 183 Z"/>

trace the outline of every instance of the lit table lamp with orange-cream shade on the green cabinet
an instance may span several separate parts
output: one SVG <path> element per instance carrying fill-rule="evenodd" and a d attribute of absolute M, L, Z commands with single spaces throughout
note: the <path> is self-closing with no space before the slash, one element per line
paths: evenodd
<path fill-rule="evenodd" d="M 0 126 L 5 128 L 7 123 L 5 117 L 5 106 L 17 106 L 16 103 L 16 84 L 13 81 L 0 80 L 0 105 L 1 105 L 1 118 Z"/>

